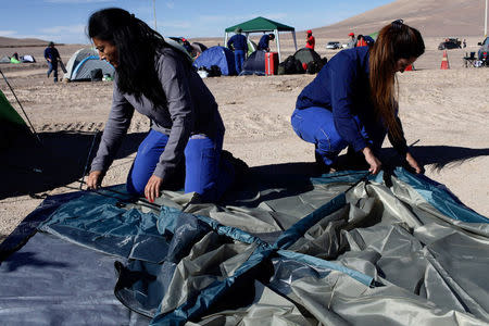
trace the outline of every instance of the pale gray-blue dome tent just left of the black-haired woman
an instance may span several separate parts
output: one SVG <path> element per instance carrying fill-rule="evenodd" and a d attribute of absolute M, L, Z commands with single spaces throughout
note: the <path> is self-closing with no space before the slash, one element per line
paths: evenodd
<path fill-rule="evenodd" d="M 105 60 L 100 60 L 96 49 L 83 48 L 70 58 L 64 78 L 72 82 L 89 80 L 91 71 L 97 68 L 102 70 L 102 74 L 114 76 L 114 67 Z"/>

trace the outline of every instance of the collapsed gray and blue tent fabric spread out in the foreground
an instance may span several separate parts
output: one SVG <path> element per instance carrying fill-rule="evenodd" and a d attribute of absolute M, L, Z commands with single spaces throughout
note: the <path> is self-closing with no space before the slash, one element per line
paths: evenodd
<path fill-rule="evenodd" d="M 489 322 L 489 220 L 424 176 L 255 171 L 218 204 L 178 191 L 150 204 L 123 189 L 80 192 L 46 212 L 39 228 L 84 254 L 115 256 L 116 298 L 150 325 Z M 12 266 L 25 248 L 2 263 L 2 277 L 21 277 Z M 51 273 L 63 264 L 43 260 Z M 9 291 L 0 284 L 0 306 L 11 302 L 0 319 L 33 305 L 32 293 L 12 302 Z"/>

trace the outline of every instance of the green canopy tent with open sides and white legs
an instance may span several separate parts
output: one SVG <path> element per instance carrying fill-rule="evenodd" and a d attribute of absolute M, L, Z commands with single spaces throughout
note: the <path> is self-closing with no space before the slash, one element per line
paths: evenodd
<path fill-rule="evenodd" d="M 238 25 L 234 25 L 230 27 L 227 27 L 224 32 L 224 43 L 227 43 L 227 39 L 228 39 L 228 34 L 229 33 L 234 33 L 236 30 L 236 28 L 241 28 L 242 33 L 244 33 L 244 35 L 249 36 L 250 33 L 267 33 L 267 32 L 273 32 L 273 34 L 275 35 L 275 40 L 277 42 L 277 50 L 278 50 L 278 61 L 280 61 L 280 40 L 279 40 L 279 32 L 290 32 L 292 33 L 292 37 L 293 37 L 293 45 L 296 47 L 296 51 L 297 51 L 297 40 L 296 40 L 296 28 L 291 27 L 291 26 L 287 26 L 264 17 L 256 17 L 253 18 L 251 21 L 244 22 L 244 23 L 240 23 Z"/>

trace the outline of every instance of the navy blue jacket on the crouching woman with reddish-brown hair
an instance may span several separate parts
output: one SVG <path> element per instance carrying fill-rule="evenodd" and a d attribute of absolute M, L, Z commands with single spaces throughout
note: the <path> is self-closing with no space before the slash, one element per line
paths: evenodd
<path fill-rule="evenodd" d="M 362 137 L 354 115 L 364 125 L 386 130 L 377 121 L 371 100 L 368 58 L 368 47 L 338 52 L 302 90 L 296 103 L 297 109 L 319 106 L 331 111 L 338 134 L 355 151 L 364 149 L 367 142 Z M 406 151 L 405 139 L 393 141 L 390 135 L 389 139 L 400 153 Z"/>

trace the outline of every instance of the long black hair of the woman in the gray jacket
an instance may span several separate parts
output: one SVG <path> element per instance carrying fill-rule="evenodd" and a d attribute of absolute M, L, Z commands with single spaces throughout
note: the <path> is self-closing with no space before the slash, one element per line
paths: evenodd
<path fill-rule="evenodd" d="M 170 47 L 145 22 L 120 8 L 95 12 L 88 20 L 88 36 L 113 43 L 118 52 L 117 87 L 140 100 L 146 96 L 154 106 L 166 103 L 154 66 L 156 51 Z"/>

